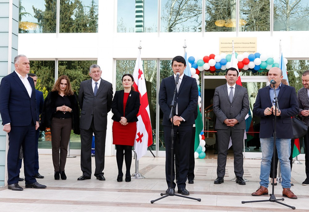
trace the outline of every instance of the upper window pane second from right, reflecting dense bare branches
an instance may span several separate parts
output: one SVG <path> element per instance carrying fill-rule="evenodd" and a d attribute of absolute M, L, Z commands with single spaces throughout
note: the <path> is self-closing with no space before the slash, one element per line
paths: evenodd
<path fill-rule="evenodd" d="M 270 2 L 269 0 L 240 0 L 239 31 L 269 31 Z"/>

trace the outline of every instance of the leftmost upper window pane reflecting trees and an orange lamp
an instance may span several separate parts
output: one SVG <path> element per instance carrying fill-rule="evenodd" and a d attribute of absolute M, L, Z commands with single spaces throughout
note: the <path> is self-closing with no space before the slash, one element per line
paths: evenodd
<path fill-rule="evenodd" d="M 19 0 L 19 33 L 55 33 L 57 0 Z"/>

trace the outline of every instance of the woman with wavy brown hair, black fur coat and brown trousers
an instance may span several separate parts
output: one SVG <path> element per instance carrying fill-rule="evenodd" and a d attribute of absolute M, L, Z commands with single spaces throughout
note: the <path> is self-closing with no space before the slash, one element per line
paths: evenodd
<path fill-rule="evenodd" d="M 66 75 L 57 79 L 44 101 L 40 130 L 45 131 L 46 127 L 50 127 L 52 135 L 54 178 L 66 180 L 65 166 L 71 129 L 75 134 L 80 134 L 78 102 Z"/>

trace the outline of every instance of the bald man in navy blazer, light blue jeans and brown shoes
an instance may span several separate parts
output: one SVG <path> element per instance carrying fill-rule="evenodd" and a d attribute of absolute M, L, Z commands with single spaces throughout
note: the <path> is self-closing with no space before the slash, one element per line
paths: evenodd
<path fill-rule="evenodd" d="M 273 133 L 275 126 L 276 114 L 276 148 L 278 158 L 280 160 L 281 176 L 282 176 L 282 196 L 291 199 L 297 199 L 296 195 L 290 190 L 291 184 L 291 138 L 293 138 L 293 130 L 291 125 L 291 117 L 298 114 L 298 101 L 294 87 L 281 83 L 282 70 L 273 67 L 268 72 L 269 82 L 275 82 L 275 90 L 273 85 L 261 88 L 256 96 L 256 102 L 253 107 L 253 115 L 261 117 L 260 121 L 260 142 L 262 150 L 260 187 L 252 196 L 261 196 L 268 194 L 269 172 L 271 166 L 271 158 L 273 156 Z M 276 91 L 279 110 L 275 110 L 274 91 Z"/>

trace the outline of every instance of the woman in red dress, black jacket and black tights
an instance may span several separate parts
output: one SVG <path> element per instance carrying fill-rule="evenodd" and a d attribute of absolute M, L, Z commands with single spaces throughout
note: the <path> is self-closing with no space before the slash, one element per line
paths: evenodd
<path fill-rule="evenodd" d="M 136 135 L 136 115 L 139 111 L 139 92 L 134 91 L 134 79 L 131 74 L 122 76 L 124 90 L 116 91 L 112 101 L 113 144 L 116 145 L 116 160 L 118 166 L 117 181 L 122 182 L 122 165 L 125 158 L 125 181 L 131 181 L 130 167 L 132 163 L 132 146 Z M 125 155 L 123 154 L 125 152 Z"/>

